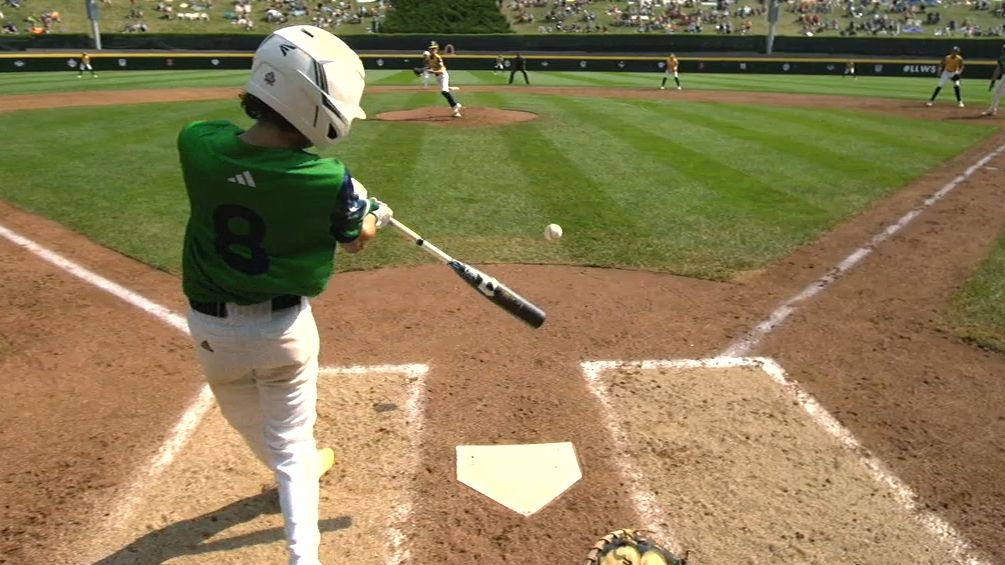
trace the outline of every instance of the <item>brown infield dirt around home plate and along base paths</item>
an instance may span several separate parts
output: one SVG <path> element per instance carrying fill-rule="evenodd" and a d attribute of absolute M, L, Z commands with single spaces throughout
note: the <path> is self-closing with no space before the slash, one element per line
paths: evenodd
<path fill-rule="evenodd" d="M 390 89 L 398 88 L 373 91 Z M 963 116 L 958 109 L 834 97 L 522 91 L 826 106 L 929 120 Z M 236 92 L 6 97 L 0 98 L 0 112 L 214 100 Z M 465 107 L 465 119 L 478 111 Z M 399 377 L 326 377 L 334 380 L 322 386 L 319 438 L 340 453 L 336 472 L 323 483 L 329 562 L 341 562 L 336 556 L 342 555 L 413 565 L 576 563 L 604 533 L 636 526 L 645 517 L 626 496 L 631 481 L 619 460 L 625 446 L 612 441 L 580 363 L 720 354 L 1003 143 L 1005 134 L 995 135 L 791 256 L 734 282 L 493 265 L 492 274 L 528 290 L 548 310 L 549 322 L 537 332 L 472 300 L 439 265 L 336 275 L 331 290 L 314 302 L 322 364 L 422 363 L 428 373 L 420 389 Z M 1005 562 L 1005 356 L 963 343 L 942 331 L 939 320 L 1005 225 L 1001 169 L 1005 156 L 999 155 L 801 305 L 752 352 L 777 360 L 917 493 L 918 507 L 945 518 L 988 562 Z M 0 226 L 184 312 L 173 276 L 5 204 Z M 280 558 L 270 480 L 252 466 L 212 410 L 194 431 L 192 447 L 147 485 L 128 516 L 119 512 L 200 391 L 185 336 L 5 238 L 0 288 L 0 379 L 7 399 L 0 409 L 0 563 Z M 350 295 L 357 308 L 337 309 Z M 346 328 L 357 329 L 351 348 L 337 339 Z M 646 496 L 662 510 L 656 526 L 673 544 L 692 550 L 693 563 L 891 563 L 909 547 L 912 553 L 902 555 L 913 563 L 949 561 L 949 550 L 915 529 L 917 522 L 907 515 L 889 514 L 894 517 L 870 525 L 886 516 L 881 512 L 899 512 L 904 505 L 884 487 L 862 480 L 856 459 L 842 458 L 843 451 L 821 439 L 802 416 L 782 415 L 786 401 L 773 396 L 774 389 L 736 372 L 699 377 L 615 375 L 604 385 L 612 406 L 627 418 L 619 425 L 629 430 L 630 441 L 638 441 L 627 451 L 651 477 Z M 421 394 L 421 422 L 405 411 L 410 390 Z M 664 410 L 630 412 L 657 399 Z M 737 425 L 729 425 L 734 417 Z M 549 441 L 574 442 L 583 479 L 530 518 L 454 481 L 457 445 Z M 747 474 L 731 476 L 730 469 Z M 771 492 L 758 488 L 758 473 L 772 478 Z M 707 480 L 696 480 L 701 478 Z M 750 504 L 723 502 L 740 499 Z M 831 510 L 838 504 L 858 510 L 814 512 L 820 501 Z M 787 504 L 796 505 L 791 516 L 777 511 Z M 770 520 L 746 527 L 761 516 L 759 508 L 768 509 Z M 391 520 L 396 509 L 407 512 Z M 715 545 L 702 541 L 709 532 L 717 533 Z"/>

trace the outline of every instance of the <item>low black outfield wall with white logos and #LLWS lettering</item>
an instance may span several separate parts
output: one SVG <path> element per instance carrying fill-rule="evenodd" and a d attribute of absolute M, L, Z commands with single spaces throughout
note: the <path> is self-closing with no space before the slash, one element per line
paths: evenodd
<path fill-rule="evenodd" d="M 0 53 L 0 72 L 75 71 L 78 53 Z M 409 69 L 421 66 L 416 53 L 361 53 L 364 65 L 370 69 Z M 662 69 L 661 56 L 579 56 L 528 55 L 528 69 L 561 71 L 628 71 L 657 72 Z M 492 55 L 453 55 L 447 57 L 452 70 L 490 70 Z M 843 58 L 810 57 L 680 57 L 681 72 L 723 72 L 751 74 L 841 74 Z M 170 69 L 248 69 L 251 53 L 152 53 L 98 51 L 91 56 L 94 69 L 102 70 L 170 70 Z M 969 76 L 990 76 L 991 61 L 971 61 Z M 976 67 L 976 69 L 975 69 Z M 933 59 L 869 59 L 856 63 L 860 76 L 933 76 L 938 63 Z"/>

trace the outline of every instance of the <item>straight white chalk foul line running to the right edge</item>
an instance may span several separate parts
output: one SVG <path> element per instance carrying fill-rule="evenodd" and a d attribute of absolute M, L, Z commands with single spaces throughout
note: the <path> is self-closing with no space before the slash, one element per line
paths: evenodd
<path fill-rule="evenodd" d="M 850 255 L 844 258 L 837 266 L 833 267 L 826 274 L 817 278 L 813 282 L 810 282 L 805 289 L 800 291 L 797 295 L 790 298 L 781 304 L 767 319 L 759 323 L 753 330 L 747 332 L 743 337 L 734 342 L 730 347 L 723 352 L 724 357 L 743 357 L 754 350 L 755 347 L 763 340 L 768 334 L 781 326 L 793 312 L 796 311 L 802 302 L 808 301 L 813 297 L 820 294 L 823 290 L 830 287 L 838 278 L 844 276 L 849 270 L 854 268 L 859 262 L 865 257 L 869 256 L 875 248 L 889 239 L 894 233 L 903 229 L 908 224 L 915 220 L 922 212 L 932 207 L 933 204 L 942 200 L 949 193 L 953 192 L 956 187 L 960 186 L 960 183 L 967 180 L 981 167 L 988 164 L 989 161 L 997 157 L 1005 151 L 1005 145 L 998 146 L 997 149 L 988 153 L 976 163 L 967 168 L 966 171 L 960 173 L 953 180 L 948 182 L 941 189 L 936 191 L 935 194 L 925 199 L 918 206 L 911 209 L 910 212 L 900 217 L 892 224 L 886 226 L 882 231 L 872 236 L 864 245 L 852 251 Z"/>

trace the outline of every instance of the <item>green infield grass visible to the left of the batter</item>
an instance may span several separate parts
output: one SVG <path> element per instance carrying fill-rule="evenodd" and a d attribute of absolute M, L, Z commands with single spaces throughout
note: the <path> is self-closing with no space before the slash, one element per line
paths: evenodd
<path fill-rule="evenodd" d="M 176 269 L 188 210 L 176 136 L 191 120 L 221 114 L 220 103 L 106 112 L 36 111 L 16 115 L 19 120 L 0 116 L 0 129 L 32 140 L 8 148 L 5 157 L 18 166 L 0 170 L 0 197 L 158 268 Z M 156 126 L 151 116 L 157 117 Z M 56 147 L 58 159 L 39 151 Z"/>

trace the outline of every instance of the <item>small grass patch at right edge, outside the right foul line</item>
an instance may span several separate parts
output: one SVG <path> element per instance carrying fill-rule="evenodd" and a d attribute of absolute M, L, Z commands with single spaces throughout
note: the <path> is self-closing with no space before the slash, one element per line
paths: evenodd
<path fill-rule="evenodd" d="M 1005 233 L 953 304 L 957 334 L 1005 353 Z"/>

